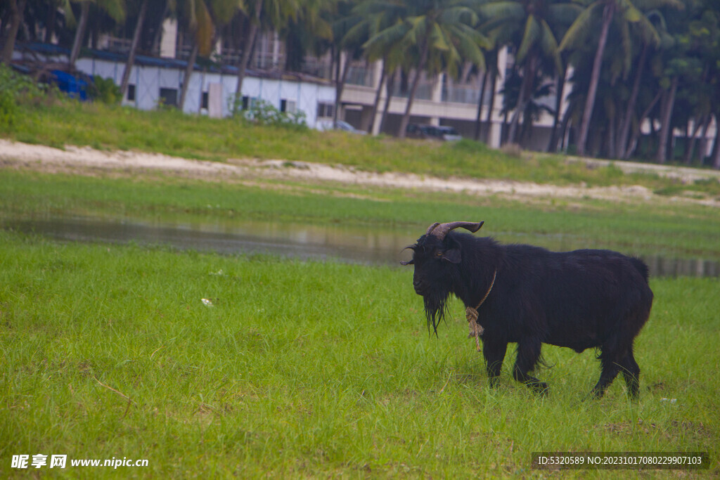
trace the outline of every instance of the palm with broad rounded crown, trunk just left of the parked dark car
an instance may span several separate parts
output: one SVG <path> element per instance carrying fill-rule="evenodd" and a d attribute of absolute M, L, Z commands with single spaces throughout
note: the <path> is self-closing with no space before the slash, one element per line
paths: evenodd
<path fill-rule="evenodd" d="M 374 56 L 382 56 L 382 53 L 399 47 L 405 51 L 406 58 L 414 60 L 415 75 L 398 132 L 398 137 L 404 138 L 423 72 L 429 67 L 430 71 L 438 73 L 439 65 L 456 71 L 462 60 L 485 68 L 481 48 L 490 47 L 490 42 L 474 30 L 478 19 L 474 9 L 479 6 L 478 1 L 404 0 L 399 6 L 402 9 L 400 22 L 378 32 L 364 47 Z"/>

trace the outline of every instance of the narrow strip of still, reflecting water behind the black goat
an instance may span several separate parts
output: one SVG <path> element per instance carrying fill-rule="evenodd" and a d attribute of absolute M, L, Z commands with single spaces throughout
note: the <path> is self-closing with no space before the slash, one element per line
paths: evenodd
<path fill-rule="evenodd" d="M 416 228 L 379 230 L 289 222 L 189 222 L 158 224 L 86 218 L 5 220 L 3 228 L 35 232 L 58 240 L 168 244 L 175 248 L 218 253 L 270 253 L 300 259 L 397 265 L 410 252 L 402 249 L 419 236 Z M 503 235 L 506 237 L 507 235 Z M 552 235 L 542 244 L 553 250 L 587 248 L 570 235 Z M 523 241 L 519 238 L 517 241 Z M 523 241 L 523 243 L 525 243 Z M 529 242 L 533 243 L 533 242 Z M 720 276 L 720 262 L 639 255 L 652 276 Z"/>

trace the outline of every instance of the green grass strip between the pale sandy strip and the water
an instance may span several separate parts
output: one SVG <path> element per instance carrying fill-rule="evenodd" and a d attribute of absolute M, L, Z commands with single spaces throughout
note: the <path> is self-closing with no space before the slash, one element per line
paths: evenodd
<path fill-rule="evenodd" d="M 485 235 L 549 248 L 615 248 L 667 257 L 720 258 L 717 209 L 592 199 L 528 203 L 495 196 L 354 186 L 264 188 L 174 178 L 91 178 L 4 171 L 0 219 L 83 215 L 159 222 L 309 222 L 408 232 L 433 221 L 483 219 Z"/>

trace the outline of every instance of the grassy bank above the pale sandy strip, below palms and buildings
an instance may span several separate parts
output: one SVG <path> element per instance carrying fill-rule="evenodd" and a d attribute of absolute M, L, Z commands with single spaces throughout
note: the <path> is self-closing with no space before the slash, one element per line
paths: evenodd
<path fill-rule="evenodd" d="M 471 140 L 440 143 L 292 130 L 170 110 L 142 112 L 73 101 L 41 107 L 22 104 L 12 125 L 0 124 L 0 136 L 58 148 L 89 145 L 218 161 L 280 158 L 343 164 L 369 171 L 504 178 L 543 184 L 642 184 L 664 194 L 691 190 L 720 196 L 720 182 L 716 180 L 680 184 L 649 174 L 624 174 L 614 166 L 588 167 L 581 162 L 567 162 L 562 156 L 520 158 Z"/>

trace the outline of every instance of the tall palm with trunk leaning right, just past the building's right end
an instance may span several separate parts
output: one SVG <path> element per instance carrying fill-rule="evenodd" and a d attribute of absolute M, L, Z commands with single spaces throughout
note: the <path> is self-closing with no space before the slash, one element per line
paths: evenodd
<path fill-rule="evenodd" d="M 625 70 L 630 67 L 630 48 L 631 41 L 629 39 L 629 30 L 631 24 L 636 24 L 642 29 L 652 29 L 652 24 L 642 14 L 635 4 L 649 8 L 658 8 L 660 6 L 675 6 L 683 8 L 680 0 L 595 0 L 592 1 L 567 31 L 565 37 L 560 43 L 560 50 L 564 50 L 570 45 L 577 45 L 577 39 L 585 32 L 596 30 L 598 22 L 598 14 L 600 17 L 600 35 L 598 37 L 598 47 L 595 50 L 593 59 L 593 70 L 590 75 L 590 85 L 588 86 L 588 94 L 585 96 L 585 108 L 582 111 L 582 122 L 580 123 L 580 134 L 577 140 L 578 155 L 585 155 L 585 144 L 588 141 L 588 132 L 590 130 L 590 117 L 593 115 L 593 107 L 595 107 L 595 96 L 598 91 L 598 82 L 600 81 L 600 69 L 603 63 L 603 54 L 605 53 L 608 42 L 608 34 L 613 21 L 619 22 L 619 31 L 622 35 L 622 43 L 626 50 Z"/>

